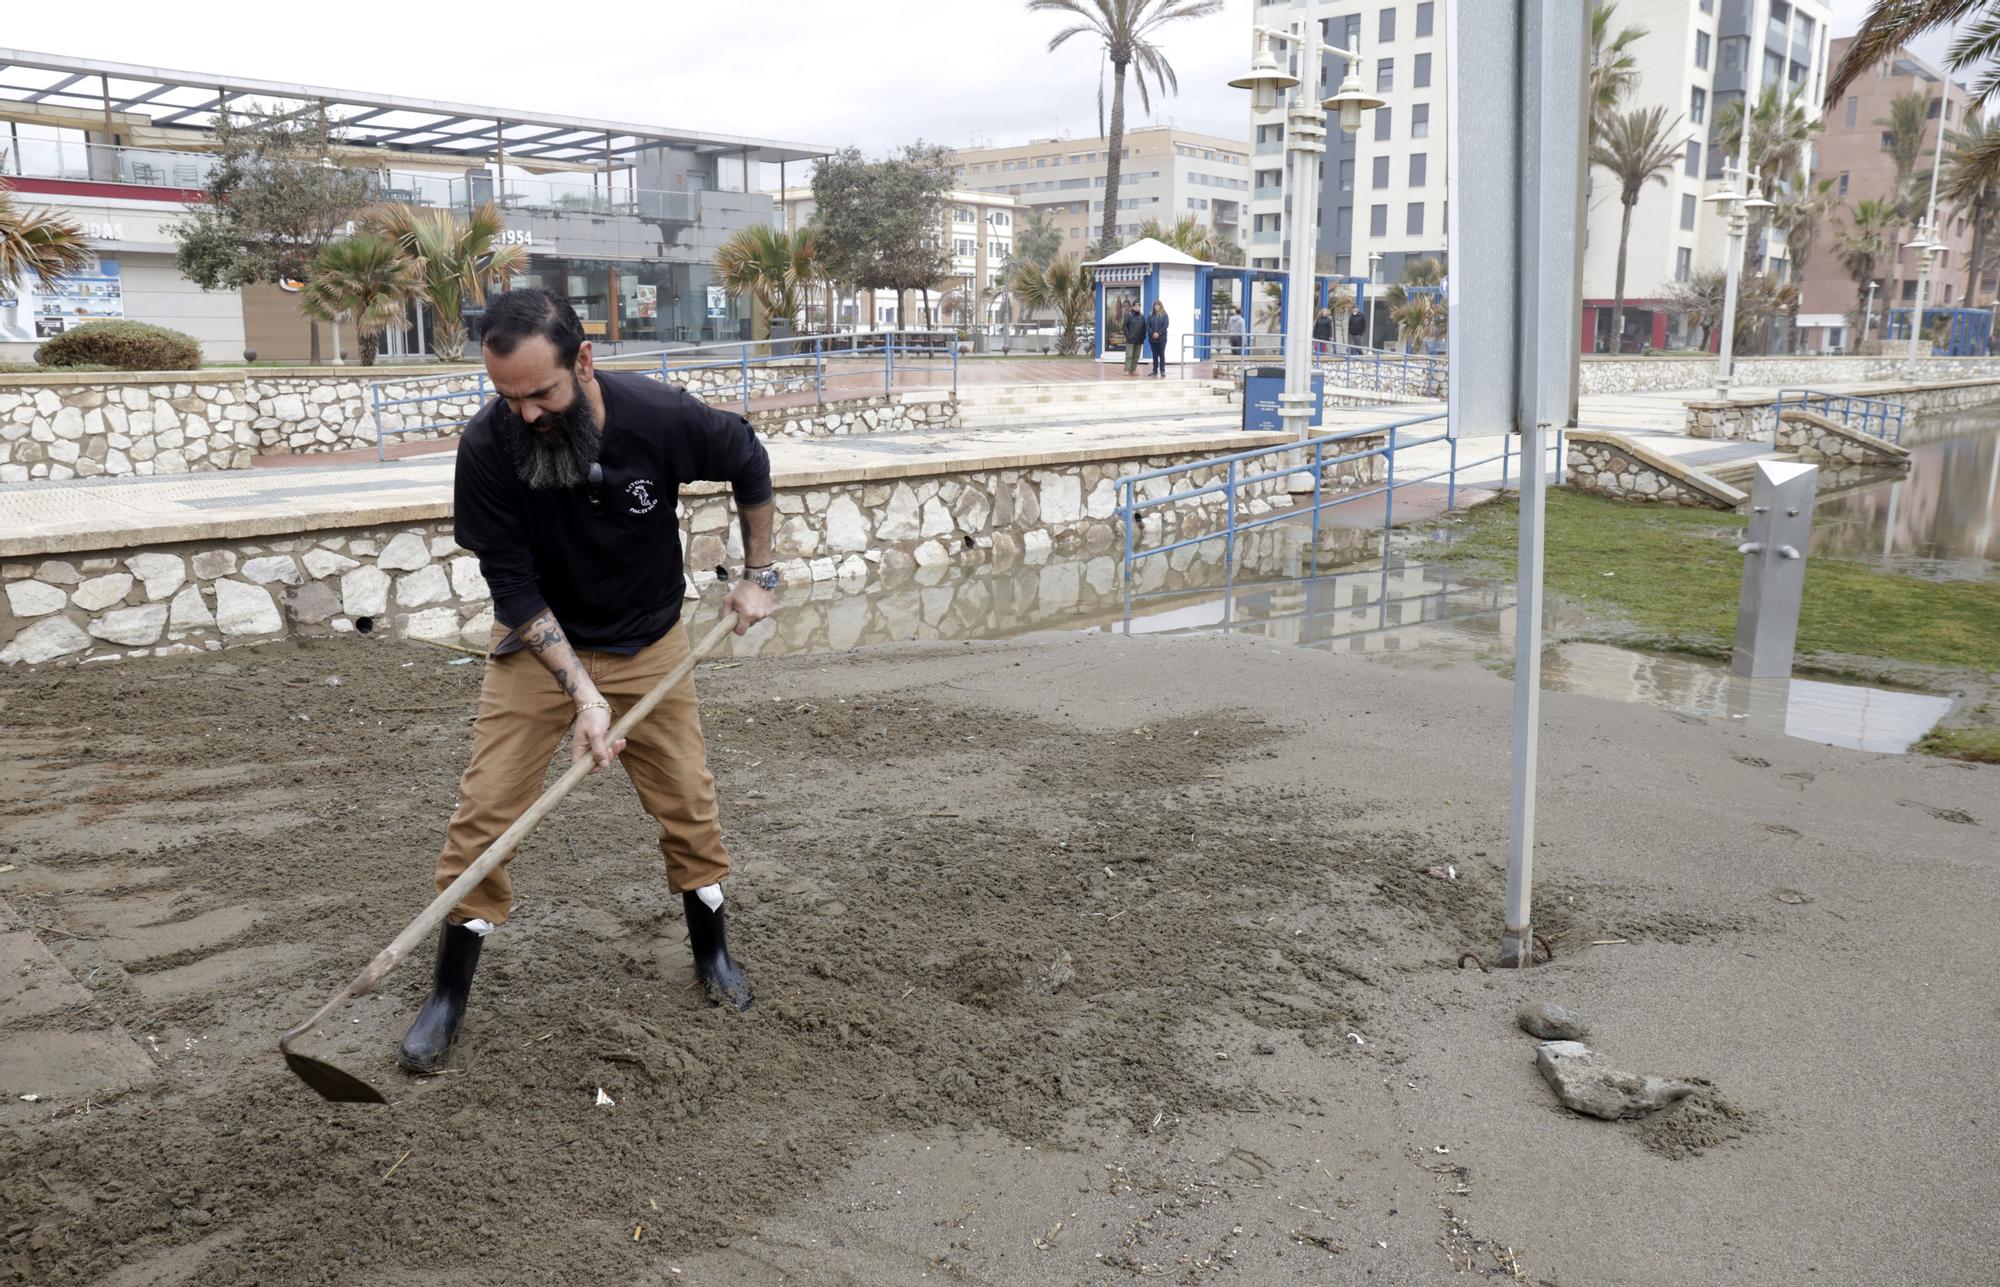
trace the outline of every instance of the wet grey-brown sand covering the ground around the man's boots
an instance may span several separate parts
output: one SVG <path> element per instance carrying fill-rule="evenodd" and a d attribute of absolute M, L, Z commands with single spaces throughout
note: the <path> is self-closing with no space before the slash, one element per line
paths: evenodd
<path fill-rule="evenodd" d="M 690 987 L 604 773 L 516 861 L 450 1071 L 392 1067 L 426 949 L 318 1045 L 392 1105 L 326 1105 L 276 1035 L 428 897 L 454 659 L 0 675 L 0 1281 L 1992 1275 L 2000 769 L 1550 693 L 1556 959 L 1482 973 L 1510 689 L 1476 665 L 1112 636 L 710 665 L 756 1009 Z M 1528 999 L 1712 1089 L 1574 1117 Z"/>

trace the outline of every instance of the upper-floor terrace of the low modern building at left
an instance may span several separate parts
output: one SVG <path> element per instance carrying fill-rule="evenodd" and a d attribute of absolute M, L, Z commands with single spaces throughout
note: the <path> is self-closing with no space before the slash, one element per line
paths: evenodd
<path fill-rule="evenodd" d="M 76 144 L 58 140 L 6 140 L 0 148 L 0 176 L 52 178 L 86 184 L 130 184 L 134 188 L 196 190 L 222 164 L 208 152 L 168 152 L 160 148 L 112 148 L 106 144 Z M 696 192 L 626 186 L 590 186 L 588 174 L 558 180 L 508 178 L 498 184 L 490 174 L 422 174 L 410 170 L 362 170 L 368 178 L 368 200 L 402 202 L 444 210 L 472 210 L 494 202 L 508 214 L 524 216 L 632 216 L 694 224 L 700 212 Z M 146 200 L 148 194 L 134 192 Z M 174 198 L 178 200 L 178 198 Z"/>

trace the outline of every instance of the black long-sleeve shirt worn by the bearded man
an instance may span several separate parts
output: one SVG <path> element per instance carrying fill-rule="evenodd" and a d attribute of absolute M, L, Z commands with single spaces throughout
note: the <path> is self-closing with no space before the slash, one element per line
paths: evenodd
<path fill-rule="evenodd" d="M 680 486 L 726 482 L 738 506 L 772 498 L 770 456 L 750 422 L 686 390 L 596 372 L 604 392 L 604 482 L 530 490 L 514 472 L 490 402 L 458 444 L 458 544 L 480 558 L 494 618 L 520 626 L 554 610 L 576 647 L 638 651 L 680 620 Z"/>

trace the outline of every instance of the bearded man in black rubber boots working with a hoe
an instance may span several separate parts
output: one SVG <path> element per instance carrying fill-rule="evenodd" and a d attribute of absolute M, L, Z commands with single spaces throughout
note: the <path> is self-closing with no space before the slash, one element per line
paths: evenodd
<path fill-rule="evenodd" d="M 624 763 L 660 823 L 666 885 L 688 917 L 694 975 L 712 1001 L 746 1009 L 750 981 L 724 933 L 730 855 L 692 679 L 626 737 L 610 741 L 608 733 L 618 711 L 688 657 L 676 518 L 684 484 L 730 484 L 746 568 L 722 606 L 736 612 L 736 634 L 770 616 L 778 586 L 770 458 L 742 416 L 638 372 L 596 370 L 576 310 L 550 290 L 494 296 L 480 350 L 498 398 L 458 440 L 454 536 L 478 556 L 496 626 L 472 763 L 458 781 L 436 887 L 450 885 L 528 809 L 568 731 L 572 763 L 590 759 L 592 771 Z M 506 923 L 512 901 L 500 865 L 450 911 L 430 999 L 402 1037 L 402 1067 L 444 1067 L 480 947 Z"/>

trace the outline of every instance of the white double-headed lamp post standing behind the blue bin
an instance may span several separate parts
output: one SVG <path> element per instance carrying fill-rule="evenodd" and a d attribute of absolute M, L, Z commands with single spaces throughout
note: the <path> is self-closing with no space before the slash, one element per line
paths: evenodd
<path fill-rule="evenodd" d="M 1280 188 L 1280 196 L 1292 198 L 1292 212 L 1284 216 L 1292 264 L 1286 276 L 1284 394 L 1278 396 L 1278 416 L 1286 430 L 1304 442 L 1312 436 L 1312 270 L 1320 214 L 1320 158 L 1326 154 L 1326 114 L 1338 112 L 1340 130 L 1352 134 L 1360 130 L 1362 112 L 1380 108 L 1382 100 L 1362 90 L 1356 70 L 1360 66 L 1358 54 L 1320 42 L 1318 0 L 1306 0 L 1304 22 L 1296 32 L 1266 26 L 1254 30 L 1256 54 L 1250 62 L 1250 74 L 1238 76 L 1230 86 L 1250 90 L 1250 106 L 1258 112 L 1274 110 L 1280 92 L 1296 90 L 1284 120 L 1284 154 L 1290 174 Z M 1272 42 L 1298 46 L 1300 76 L 1278 68 L 1270 52 Z M 1324 54 L 1348 60 L 1348 74 L 1332 98 L 1320 98 L 1320 60 Z"/>

